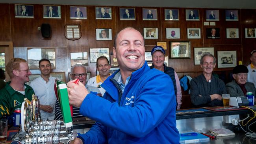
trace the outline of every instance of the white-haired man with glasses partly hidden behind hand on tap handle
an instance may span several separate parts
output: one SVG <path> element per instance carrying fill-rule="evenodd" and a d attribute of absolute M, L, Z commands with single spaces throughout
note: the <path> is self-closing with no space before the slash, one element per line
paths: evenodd
<path fill-rule="evenodd" d="M 86 72 L 87 72 L 87 70 L 86 70 L 85 66 L 83 66 L 81 64 L 76 64 L 71 67 L 71 79 L 73 79 L 73 80 L 79 79 L 79 81 L 82 83 L 82 85 L 85 86 L 86 77 L 87 77 Z M 85 87 L 87 88 L 88 92 L 102 97 L 102 95 L 101 95 L 100 91 L 97 89 L 97 87 L 92 87 L 92 86 L 85 86 Z M 79 107 L 73 107 L 73 118 L 83 117 L 79 111 L 80 111 Z M 55 118 L 54 119 L 55 120 L 63 119 L 58 100 L 55 103 Z"/>

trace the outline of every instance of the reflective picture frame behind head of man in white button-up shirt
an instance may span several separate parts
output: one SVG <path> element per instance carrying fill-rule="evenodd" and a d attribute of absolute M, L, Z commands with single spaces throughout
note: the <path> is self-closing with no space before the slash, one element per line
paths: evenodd
<path fill-rule="evenodd" d="M 39 69 L 39 61 L 48 59 L 51 68 L 56 69 L 56 50 L 55 48 L 27 48 L 28 67 L 31 70 Z"/>

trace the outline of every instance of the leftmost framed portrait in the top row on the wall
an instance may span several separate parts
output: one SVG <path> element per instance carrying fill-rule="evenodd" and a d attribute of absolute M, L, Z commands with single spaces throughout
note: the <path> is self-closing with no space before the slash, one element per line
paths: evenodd
<path fill-rule="evenodd" d="M 15 4 L 16 18 L 34 18 L 34 6 L 30 4 Z"/>

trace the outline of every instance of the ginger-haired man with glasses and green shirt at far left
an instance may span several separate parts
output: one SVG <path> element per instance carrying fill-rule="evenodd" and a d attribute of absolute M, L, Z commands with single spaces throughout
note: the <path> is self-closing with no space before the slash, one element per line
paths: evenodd
<path fill-rule="evenodd" d="M 6 65 L 6 72 L 11 81 L 0 90 L 0 119 L 11 115 L 15 109 L 21 108 L 24 98 L 32 100 L 32 94 L 34 94 L 32 87 L 25 84 L 31 75 L 25 59 L 11 59 Z"/>

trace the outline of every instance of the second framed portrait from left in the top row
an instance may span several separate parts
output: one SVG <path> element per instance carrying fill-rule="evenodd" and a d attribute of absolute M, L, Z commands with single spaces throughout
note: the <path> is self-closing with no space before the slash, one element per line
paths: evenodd
<path fill-rule="evenodd" d="M 61 18 L 61 6 L 43 5 L 43 18 Z"/>

